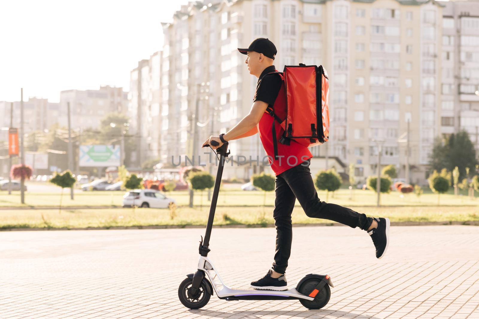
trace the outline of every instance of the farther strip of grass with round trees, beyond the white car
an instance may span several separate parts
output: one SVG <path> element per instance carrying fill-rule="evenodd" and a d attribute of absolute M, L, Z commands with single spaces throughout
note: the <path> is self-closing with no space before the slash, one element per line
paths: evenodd
<path fill-rule="evenodd" d="M 207 191 L 203 192 L 203 205 L 209 206 L 207 200 Z M 63 194 L 63 206 L 121 206 L 125 192 L 123 191 L 97 191 L 97 192 L 79 192 L 75 194 L 75 199 L 71 200 L 69 191 L 65 189 Z M 242 191 L 235 189 L 223 189 L 218 197 L 218 206 L 249 206 L 256 207 L 263 204 L 262 191 Z M 319 198 L 326 200 L 326 192 L 319 191 Z M 342 206 L 376 206 L 376 193 L 372 190 L 354 190 L 353 198 L 350 199 L 348 189 L 340 189 L 335 194 L 329 194 L 328 202 Z M 167 196 L 175 198 L 179 206 L 188 205 L 189 195 L 187 191 L 171 192 Z M 420 198 L 414 194 L 406 194 L 401 197 L 398 192 L 381 194 L 381 205 L 383 206 L 436 206 L 437 194 L 425 192 Z M 12 192 L 8 195 L 6 191 L 0 191 L 0 209 L 1 207 L 29 207 L 29 206 L 58 206 L 60 202 L 60 193 L 30 193 L 25 194 L 26 205 L 20 204 L 20 192 Z M 195 192 L 194 204 L 199 206 L 201 203 L 201 193 Z M 465 194 L 454 196 L 452 192 L 440 196 L 440 205 L 452 206 L 475 206 L 479 204 L 478 199 L 470 199 Z M 274 205 L 274 191 L 267 192 L 266 205 Z M 299 207 L 299 203 L 296 205 Z"/>

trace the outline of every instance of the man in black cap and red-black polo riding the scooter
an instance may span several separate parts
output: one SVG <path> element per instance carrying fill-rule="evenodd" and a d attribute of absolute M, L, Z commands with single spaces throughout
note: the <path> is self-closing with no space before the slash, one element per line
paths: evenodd
<path fill-rule="evenodd" d="M 265 111 L 268 105 L 274 105 L 281 88 L 281 78 L 277 74 L 269 74 L 275 72 L 273 61 L 276 47 L 270 40 L 258 38 L 251 42 L 248 48 L 238 48 L 238 50 L 248 55 L 245 60 L 248 70 L 250 74 L 258 77 L 253 105 L 249 114 L 235 127 L 219 136 L 210 136 L 203 145 L 211 145 L 211 141 L 216 141 L 219 145 L 212 146 L 216 149 L 227 141 L 259 133 L 264 150 L 269 155 L 268 158 L 276 176 L 276 198 L 273 211 L 276 253 L 272 269 L 261 279 L 253 281 L 251 287 L 271 290 L 287 289 L 285 271 L 291 252 L 291 213 L 296 199 L 308 217 L 334 220 L 352 228 L 359 227 L 367 231 L 376 247 L 376 257 L 384 256 L 388 248 L 389 219 L 367 217 L 352 209 L 320 201 L 309 171 L 312 154 L 307 147 L 295 141 L 291 141 L 290 145 L 278 143 L 279 156 L 278 159 L 274 159 L 272 132 L 274 118 Z M 283 129 L 280 125 L 276 125 L 275 128 L 276 138 L 279 140 Z M 285 159 L 289 156 L 296 156 L 298 160 L 286 161 Z M 288 162 L 296 163 L 289 165 Z"/>

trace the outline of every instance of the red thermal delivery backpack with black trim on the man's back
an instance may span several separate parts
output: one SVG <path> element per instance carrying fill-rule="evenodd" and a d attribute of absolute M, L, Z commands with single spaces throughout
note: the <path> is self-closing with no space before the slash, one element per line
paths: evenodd
<path fill-rule="evenodd" d="M 289 145 L 294 140 L 306 147 L 326 143 L 329 139 L 329 82 L 324 67 L 300 63 L 299 66 L 285 66 L 283 72 L 269 74 L 278 74 L 283 81 L 274 105 L 266 108 L 283 128 L 279 142 Z M 282 98 L 285 102 L 278 100 Z M 272 127 L 274 159 L 278 156 L 276 121 Z"/>

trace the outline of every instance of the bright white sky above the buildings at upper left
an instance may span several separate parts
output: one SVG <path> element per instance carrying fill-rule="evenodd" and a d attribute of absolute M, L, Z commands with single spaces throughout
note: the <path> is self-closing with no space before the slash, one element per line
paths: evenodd
<path fill-rule="evenodd" d="M 130 70 L 160 50 L 160 22 L 187 0 L 0 1 L 0 101 L 60 91 L 128 91 Z"/>

